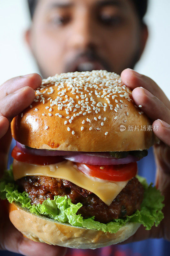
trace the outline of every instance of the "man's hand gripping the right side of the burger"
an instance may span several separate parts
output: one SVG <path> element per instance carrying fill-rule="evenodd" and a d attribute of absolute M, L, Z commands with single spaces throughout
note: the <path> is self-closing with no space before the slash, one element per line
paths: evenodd
<path fill-rule="evenodd" d="M 157 164 L 156 186 L 165 196 L 165 207 L 163 208 L 164 219 L 156 228 L 150 231 L 141 227 L 134 236 L 131 236 L 126 243 L 143 240 L 146 238 L 163 237 L 170 240 L 170 101 L 149 77 L 143 76 L 131 69 L 123 70 L 122 82 L 132 91 L 132 97 L 137 106 L 151 119 L 152 128 L 158 126 L 153 132 L 161 140 L 159 145 L 154 146 L 154 155 Z M 148 172 L 149 166 L 148 166 Z"/>

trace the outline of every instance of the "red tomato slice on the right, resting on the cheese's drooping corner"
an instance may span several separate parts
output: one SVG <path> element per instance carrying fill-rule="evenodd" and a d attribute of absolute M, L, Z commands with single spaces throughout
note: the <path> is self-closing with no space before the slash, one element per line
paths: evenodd
<path fill-rule="evenodd" d="M 137 174 L 137 163 L 117 165 L 90 165 L 75 163 L 78 170 L 86 175 L 103 180 L 126 181 Z"/>

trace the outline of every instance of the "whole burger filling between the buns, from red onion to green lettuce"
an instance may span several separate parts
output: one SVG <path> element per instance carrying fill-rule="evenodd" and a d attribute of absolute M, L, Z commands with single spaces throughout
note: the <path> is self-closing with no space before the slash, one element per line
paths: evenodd
<path fill-rule="evenodd" d="M 147 152 L 68 152 L 23 146 L 12 151 L 13 165 L 0 180 L 1 199 L 61 223 L 110 233 L 127 222 L 149 230 L 163 219 L 163 196 L 136 177 L 136 161 Z"/>

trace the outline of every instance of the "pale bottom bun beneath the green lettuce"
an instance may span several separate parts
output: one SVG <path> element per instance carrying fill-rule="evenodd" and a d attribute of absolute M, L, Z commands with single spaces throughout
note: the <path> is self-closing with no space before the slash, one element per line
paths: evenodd
<path fill-rule="evenodd" d="M 77 249 L 96 249 L 123 242 L 140 226 L 139 223 L 127 223 L 116 234 L 110 234 L 73 227 L 70 224 L 36 215 L 16 203 L 10 204 L 9 217 L 12 224 L 30 240 Z"/>

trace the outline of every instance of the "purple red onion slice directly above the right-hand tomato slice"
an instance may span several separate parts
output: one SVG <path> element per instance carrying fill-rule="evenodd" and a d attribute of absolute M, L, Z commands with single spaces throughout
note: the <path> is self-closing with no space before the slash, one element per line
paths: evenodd
<path fill-rule="evenodd" d="M 72 162 L 81 163 L 81 164 L 92 164 L 92 165 L 111 165 L 111 164 L 129 164 L 132 162 L 137 162 L 139 160 L 136 156 L 127 156 L 124 158 L 104 158 L 104 157 L 96 157 L 84 154 L 78 154 L 74 156 L 63 156 L 66 160 L 70 160 Z"/>

